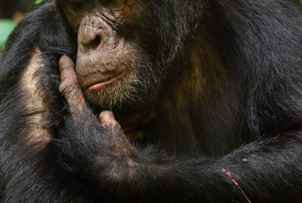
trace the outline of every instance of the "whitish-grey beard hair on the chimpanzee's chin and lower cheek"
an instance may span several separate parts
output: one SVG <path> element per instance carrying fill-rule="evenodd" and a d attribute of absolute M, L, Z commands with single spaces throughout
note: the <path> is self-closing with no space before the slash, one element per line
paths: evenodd
<path fill-rule="evenodd" d="M 131 68 L 124 78 L 105 86 L 98 92 L 85 92 L 84 96 L 88 103 L 102 109 L 120 110 L 123 104 L 128 107 L 147 105 L 150 96 L 155 95 L 150 93 L 150 87 L 154 89 L 154 82 L 157 81 L 154 78 L 155 74 L 150 74 L 153 68 L 139 65 L 134 60 L 127 66 Z M 123 68 L 125 71 L 129 69 Z"/>

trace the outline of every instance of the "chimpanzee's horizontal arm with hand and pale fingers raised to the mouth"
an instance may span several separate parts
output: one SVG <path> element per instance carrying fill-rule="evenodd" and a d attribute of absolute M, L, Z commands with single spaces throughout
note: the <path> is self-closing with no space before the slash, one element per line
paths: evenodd
<path fill-rule="evenodd" d="M 87 108 L 73 62 L 60 60 L 60 93 L 71 117 L 61 161 L 98 195 L 122 202 L 289 202 L 301 188 L 301 132 L 258 140 L 224 157 L 177 160 L 153 148 L 134 148 L 111 112 L 99 120 Z M 287 191 L 296 196 L 284 196 Z M 248 200 L 249 199 L 249 200 Z"/>

